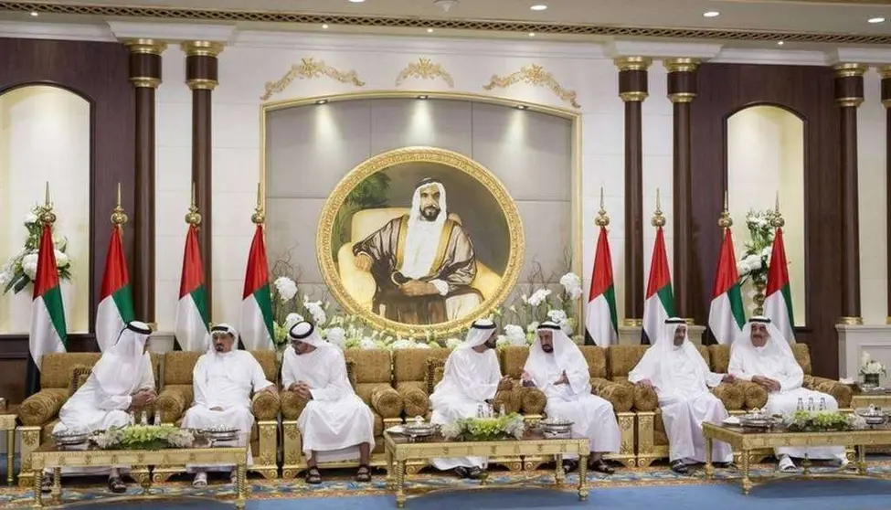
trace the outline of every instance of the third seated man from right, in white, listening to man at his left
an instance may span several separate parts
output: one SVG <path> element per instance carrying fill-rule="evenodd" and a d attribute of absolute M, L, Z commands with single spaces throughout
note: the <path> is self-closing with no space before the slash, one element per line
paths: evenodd
<path fill-rule="evenodd" d="M 589 467 L 599 473 L 614 470 L 603 461 L 603 453 L 619 452 L 619 422 L 612 404 L 591 395 L 588 362 L 560 326 L 545 322 L 538 326 L 538 341 L 529 348 L 523 368 L 523 386 L 539 388 L 547 397 L 548 417 L 573 422 L 572 435 L 589 439 Z M 578 467 L 574 456 L 563 456 L 567 472 Z"/>

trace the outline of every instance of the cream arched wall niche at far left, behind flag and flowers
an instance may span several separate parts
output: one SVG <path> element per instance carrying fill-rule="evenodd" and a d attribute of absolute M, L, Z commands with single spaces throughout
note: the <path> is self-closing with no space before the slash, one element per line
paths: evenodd
<path fill-rule="evenodd" d="M 24 218 L 49 183 L 69 239 L 71 280 L 61 282 L 69 332 L 89 329 L 90 103 L 67 90 L 29 86 L 0 95 L 0 264 L 22 249 Z M 0 297 L 0 333 L 27 333 L 32 287 Z"/>

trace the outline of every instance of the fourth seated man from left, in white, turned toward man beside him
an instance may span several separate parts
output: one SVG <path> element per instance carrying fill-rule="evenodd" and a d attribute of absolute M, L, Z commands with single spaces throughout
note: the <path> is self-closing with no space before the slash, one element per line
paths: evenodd
<path fill-rule="evenodd" d="M 476 321 L 464 342 L 449 355 L 442 380 L 430 395 L 430 423 L 445 425 L 474 418 L 480 406 L 491 402 L 499 390 L 513 388 L 510 377 L 501 375 L 494 332 L 492 321 Z M 430 463 L 439 470 L 454 469 L 462 478 L 478 479 L 483 477 L 487 462 L 483 457 L 462 457 L 433 459 Z"/>

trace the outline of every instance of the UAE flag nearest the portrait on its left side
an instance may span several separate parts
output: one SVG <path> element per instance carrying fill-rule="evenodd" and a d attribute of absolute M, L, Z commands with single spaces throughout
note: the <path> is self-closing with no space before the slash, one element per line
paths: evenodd
<path fill-rule="evenodd" d="M 241 343 L 245 349 L 251 351 L 272 349 L 275 346 L 272 343 L 273 335 L 269 265 L 266 262 L 263 228 L 258 225 L 254 231 L 254 240 L 250 242 L 248 270 L 244 275 Z"/>

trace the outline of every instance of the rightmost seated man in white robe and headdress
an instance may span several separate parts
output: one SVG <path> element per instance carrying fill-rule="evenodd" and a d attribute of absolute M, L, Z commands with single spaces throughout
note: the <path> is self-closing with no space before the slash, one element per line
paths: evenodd
<path fill-rule="evenodd" d="M 804 372 L 795 360 L 789 342 L 766 317 L 752 317 L 737 336 L 730 347 L 728 371 L 734 377 L 751 381 L 768 391 L 765 410 L 770 414 L 792 414 L 800 402 L 809 398 L 823 403 L 827 410 L 838 409 L 838 402 L 832 395 L 801 388 Z M 780 471 L 786 473 L 798 471 L 790 457 L 807 456 L 809 459 L 833 460 L 841 467 L 848 465 L 842 446 L 777 448 L 776 454 L 780 459 Z"/>

